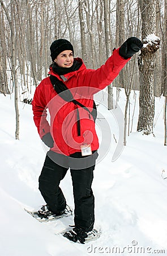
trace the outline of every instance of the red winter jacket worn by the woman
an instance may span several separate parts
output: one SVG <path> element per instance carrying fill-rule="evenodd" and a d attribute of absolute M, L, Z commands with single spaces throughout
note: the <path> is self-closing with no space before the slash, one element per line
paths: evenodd
<path fill-rule="evenodd" d="M 87 69 L 80 58 L 75 60 L 82 62 L 81 67 L 77 71 L 63 75 L 63 79 L 54 73 L 52 68 L 49 74 L 65 82 L 75 100 L 92 112 L 93 94 L 108 86 L 130 59 L 123 59 L 119 55 L 118 49 L 114 49 L 113 55 L 96 70 Z M 52 151 L 70 155 L 80 151 L 80 146 L 83 143 L 91 144 L 92 151 L 99 148 L 99 140 L 92 115 L 78 106 L 81 131 L 80 136 L 78 136 L 76 106 L 73 102 L 66 102 L 57 95 L 49 77 L 46 77 L 37 86 L 32 101 L 32 109 L 40 137 L 42 138 L 49 132 L 52 134 L 54 139 Z M 50 122 L 47 121 L 48 118 L 46 119 L 46 109 L 50 113 Z"/>

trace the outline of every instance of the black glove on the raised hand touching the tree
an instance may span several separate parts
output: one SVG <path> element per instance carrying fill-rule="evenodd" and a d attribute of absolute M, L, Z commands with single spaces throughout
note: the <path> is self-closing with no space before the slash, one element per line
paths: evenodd
<path fill-rule="evenodd" d="M 143 43 L 140 39 L 132 37 L 128 38 L 122 46 L 119 48 L 119 55 L 123 57 L 123 59 L 129 59 L 136 52 L 138 52 L 143 47 Z"/>

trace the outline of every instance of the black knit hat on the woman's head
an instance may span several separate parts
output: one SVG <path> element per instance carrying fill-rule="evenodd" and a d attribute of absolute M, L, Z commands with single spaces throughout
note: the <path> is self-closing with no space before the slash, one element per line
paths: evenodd
<path fill-rule="evenodd" d="M 55 40 L 50 46 L 50 53 L 51 53 L 50 56 L 52 57 L 52 60 L 54 61 L 55 58 L 59 55 L 59 53 L 66 50 L 71 50 L 74 56 L 74 48 L 68 40 L 66 39 Z"/>

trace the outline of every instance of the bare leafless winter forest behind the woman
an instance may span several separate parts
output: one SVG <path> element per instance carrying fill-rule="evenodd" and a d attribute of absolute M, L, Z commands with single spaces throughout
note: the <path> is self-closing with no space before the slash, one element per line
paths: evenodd
<path fill-rule="evenodd" d="M 34 88 L 52 63 L 50 44 L 70 40 L 75 57 L 87 68 L 99 68 L 130 36 L 140 38 L 141 52 L 108 86 L 108 109 L 117 108 L 119 92 L 126 94 L 124 139 L 130 134 L 130 93 L 140 90 L 138 131 L 153 134 L 155 97 L 164 97 L 166 145 L 167 0 L 0 0 L 0 92 L 15 94 L 19 139 L 18 101 L 31 103 Z M 117 96 L 113 99 L 113 86 Z M 114 103 L 116 102 L 116 103 Z M 134 111 L 134 110 L 132 110 Z"/>

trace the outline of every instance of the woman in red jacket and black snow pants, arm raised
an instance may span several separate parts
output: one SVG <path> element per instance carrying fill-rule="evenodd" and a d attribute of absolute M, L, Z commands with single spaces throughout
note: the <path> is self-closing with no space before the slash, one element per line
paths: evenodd
<path fill-rule="evenodd" d="M 91 185 L 99 141 L 92 114 L 93 94 L 108 86 L 142 47 L 138 38 L 129 38 L 95 70 L 87 69 L 79 57 L 74 59 L 74 48 L 66 39 L 55 40 L 50 46 L 53 64 L 49 77 L 37 86 L 32 102 L 38 133 L 50 147 L 39 177 L 39 189 L 46 205 L 38 210 L 38 216 L 47 218 L 66 213 L 66 200 L 59 183 L 70 168 L 75 228 L 64 236 L 71 241 L 84 243 L 95 221 Z M 70 94 L 65 89 L 70 89 Z"/>

